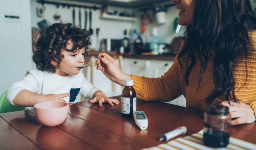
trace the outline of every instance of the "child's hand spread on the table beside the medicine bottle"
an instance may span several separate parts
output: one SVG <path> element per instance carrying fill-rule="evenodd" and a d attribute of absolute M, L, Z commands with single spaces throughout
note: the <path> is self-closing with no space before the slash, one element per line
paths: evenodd
<path fill-rule="evenodd" d="M 102 107 L 102 103 L 104 102 L 108 102 L 111 106 L 114 106 L 113 103 L 119 104 L 119 101 L 117 99 L 110 99 L 106 97 L 106 95 L 103 94 L 102 92 L 100 94 L 97 93 L 97 95 L 92 100 L 90 100 L 90 102 L 91 103 L 98 102 L 100 107 Z"/>

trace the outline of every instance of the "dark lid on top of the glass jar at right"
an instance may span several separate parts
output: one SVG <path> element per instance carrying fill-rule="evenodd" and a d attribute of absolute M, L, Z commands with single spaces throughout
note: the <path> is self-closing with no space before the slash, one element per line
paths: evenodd
<path fill-rule="evenodd" d="M 206 112 L 208 114 L 226 115 L 228 114 L 228 107 L 219 104 L 210 104 L 207 107 Z"/>

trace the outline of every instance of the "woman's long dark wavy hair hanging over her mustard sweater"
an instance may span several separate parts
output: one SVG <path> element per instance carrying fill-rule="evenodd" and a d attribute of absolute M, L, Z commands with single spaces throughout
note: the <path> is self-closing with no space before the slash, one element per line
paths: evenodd
<path fill-rule="evenodd" d="M 201 66 L 198 89 L 207 64 L 213 60 L 215 89 L 208 95 L 205 102 L 211 103 L 221 96 L 224 96 L 228 102 L 229 99 L 238 102 L 235 96 L 236 81 L 232 65 L 239 53 L 245 54 L 247 82 L 246 45 L 252 46 L 248 32 L 255 29 L 256 16 L 250 0 L 196 0 L 193 23 L 187 25 L 183 37 L 185 45 L 178 55 L 181 69 L 181 58 L 188 65 L 185 73 L 187 86 L 196 58 L 200 60 Z M 187 56 L 186 60 L 185 56 Z"/>

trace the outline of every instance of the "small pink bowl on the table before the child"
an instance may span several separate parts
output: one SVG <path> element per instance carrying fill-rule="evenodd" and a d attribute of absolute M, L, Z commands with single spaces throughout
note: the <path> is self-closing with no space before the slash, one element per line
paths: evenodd
<path fill-rule="evenodd" d="M 36 119 L 45 126 L 57 126 L 65 121 L 69 105 L 64 102 L 42 102 L 34 105 Z"/>

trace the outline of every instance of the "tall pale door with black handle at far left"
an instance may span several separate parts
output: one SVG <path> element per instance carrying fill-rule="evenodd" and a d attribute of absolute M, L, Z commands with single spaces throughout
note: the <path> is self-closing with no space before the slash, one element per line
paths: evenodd
<path fill-rule="evenodd" d="M 1 95 L 32 69 L 30 0 L 0 0 L 0 33 Z"/>

